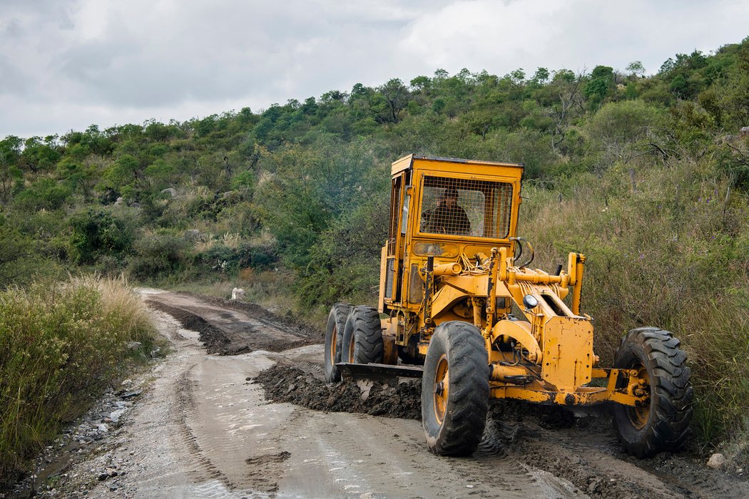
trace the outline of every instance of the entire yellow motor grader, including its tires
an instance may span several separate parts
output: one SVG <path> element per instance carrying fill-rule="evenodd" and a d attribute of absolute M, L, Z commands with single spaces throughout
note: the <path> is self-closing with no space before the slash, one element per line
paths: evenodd
<path fill-rule="evenodd" d="M 533 248 L 517 236 L 522 174 L 523 165 L 466 159 L 392 163 L 379 306 L 330 310 L 328 382 L 421 376 L 422 424 L 437 454 L 476 450 L 490 398 L 607 402 L 625 451 L 678 450 L 692 414 L 679 340 L 633 329 L 613 367 L 598 366 L 592 318 L 580 312 L 586 257 L 570 253 L 551 274 L 529 266 Z"/>

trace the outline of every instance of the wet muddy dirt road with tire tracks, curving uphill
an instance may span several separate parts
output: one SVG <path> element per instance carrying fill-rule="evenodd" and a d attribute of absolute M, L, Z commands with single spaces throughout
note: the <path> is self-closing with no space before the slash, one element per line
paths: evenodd
<path fill-rule="evenodd" d="M 326 385 L 318 331 L 252 305 L 142 295 L 172 353 L 133 382 L 142 393 L 119 426 L 78 450 L 42 495 L 749 497 L 743 470 L 705 468 L 691 454 L 633 459 L 607 417 L 554 408 L 494 403 L 474 456 L 434 456 L 418 385 Z"/>

